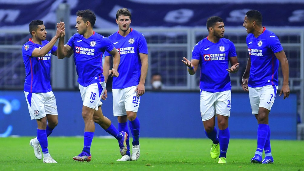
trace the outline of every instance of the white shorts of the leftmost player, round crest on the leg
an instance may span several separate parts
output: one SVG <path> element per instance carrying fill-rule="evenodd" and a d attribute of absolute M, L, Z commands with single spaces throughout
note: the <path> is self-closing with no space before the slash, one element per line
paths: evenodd
<path fill-rule="evenodd" d="M 29 93 L 24 91 L 24 94 L 32 120 L 41 119 L 47 115 L 58 115 L 53 91 L 47 93 Z"/>

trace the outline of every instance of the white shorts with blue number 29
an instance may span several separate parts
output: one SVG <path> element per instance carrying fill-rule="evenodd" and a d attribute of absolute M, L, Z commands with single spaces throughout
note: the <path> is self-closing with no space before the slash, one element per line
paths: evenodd
<path fill-rule="evenodd" d="M 113 115 L 124 116 L 126 111 L 138 111 L 140 97 L 136 96 L 137 86 L 127 87 L 123 89 L 112 89 L 113 93 Z"/>

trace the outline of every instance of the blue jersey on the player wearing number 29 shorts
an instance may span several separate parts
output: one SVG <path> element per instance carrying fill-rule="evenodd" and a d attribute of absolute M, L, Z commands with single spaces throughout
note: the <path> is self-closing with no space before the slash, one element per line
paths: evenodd
<path fill-rule="evenodd" d="M 130 30 L 130 33 L 126 37 L 121 36 L 119 32 L 115 32 L 109 36 L 109 39 L 120 54 L 119 77 L 113 77 L 113 89 L 137 86 L 140 81 L 141 70 L 139 53 L 148 54 L 145 37 L 134 29 Z M 110 54 L 105 53 L 105 56 L 110 56 Z"/>

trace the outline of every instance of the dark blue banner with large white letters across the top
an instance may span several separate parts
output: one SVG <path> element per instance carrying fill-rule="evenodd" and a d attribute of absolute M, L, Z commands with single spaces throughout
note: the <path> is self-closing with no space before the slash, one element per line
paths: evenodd
<path fill-rule="evenodd" d="M 33 19 L 45 22 L 54 29 L 59 21 L 56 10 L 62 2 L 71 9 L 71 27 L 76 24 L 78 10 L 92 9 L 96 14 L 95 28 L 116 28 L 118 9 L 128 8 L 133 27 L 195 27 L 205 26 L 212 15 L 224 19 L 226 26 L 242 26 L 245 13 L 250 9 L 263 15 L 263 26 L 304 26 L 304 2 L 301 0 L 261 1 L 79 1 L 79 0 L 0 0 L 0 29 L 28 29 Z"/>

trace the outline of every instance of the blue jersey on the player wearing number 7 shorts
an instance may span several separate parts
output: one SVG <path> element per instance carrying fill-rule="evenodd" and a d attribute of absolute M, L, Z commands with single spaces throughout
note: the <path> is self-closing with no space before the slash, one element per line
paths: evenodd
<path fill-rule="evenodd" d="M 283 50 L 278 37 L 264 27 L 264 31 L 257 38 L 248 34 L 246 43 L 251 60 L 248 86 L 277 86 L 279 60 L 275 53 Z"/>

